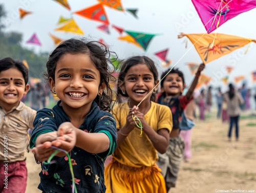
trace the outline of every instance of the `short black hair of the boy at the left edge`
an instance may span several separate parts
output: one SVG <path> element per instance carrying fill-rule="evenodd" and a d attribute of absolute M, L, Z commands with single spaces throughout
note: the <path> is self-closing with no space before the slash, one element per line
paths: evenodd
<path fill-rule="evenodd" d="M 0 72 L 11 68 L 17 69 L 22 73 L 26 85 L 29 81 L 29 70 L 22 61 L 14 60 L 10 57 L 0 60 Z"/>

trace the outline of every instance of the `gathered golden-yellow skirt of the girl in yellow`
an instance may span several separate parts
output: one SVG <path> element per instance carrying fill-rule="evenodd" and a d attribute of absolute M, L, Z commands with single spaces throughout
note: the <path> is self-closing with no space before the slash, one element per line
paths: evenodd
<path fill-rule="evenodd" d="M 135 168 L 115 161 L 105 168 L 106 193 L 166 193 L 157 164 Z"/>

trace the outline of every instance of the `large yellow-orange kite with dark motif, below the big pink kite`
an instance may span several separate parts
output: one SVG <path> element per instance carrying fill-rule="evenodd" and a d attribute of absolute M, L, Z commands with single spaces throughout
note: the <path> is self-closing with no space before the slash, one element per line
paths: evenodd
<path fill-rule="evenodd" d="M 187 36 L 193 43 L 199 56 L 204 63 L 208 63 L 221 56 L 231 53 L 238 48 L 249 44 L 251 41 L 256 42 L 254 39 L 239 37 L 228 34 L 184 34 L 181 33 L 178 38 Z"/>

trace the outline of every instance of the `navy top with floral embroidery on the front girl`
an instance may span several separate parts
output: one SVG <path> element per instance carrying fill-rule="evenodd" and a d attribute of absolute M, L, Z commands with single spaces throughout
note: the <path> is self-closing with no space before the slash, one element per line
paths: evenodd
<path fill-rule="evenodd" d="M 34 120 L 35 128 L 31 135 L 30 148 L 34 147 L 37 136 L 57 131 L 61 123 L 70 121 L 59 103 L 60 101 L 53 109 L 38 110 Z M 116 121 L 110 113 L 100 111 L 96 102 L 93 102 L 90 113 L 79 128 L 89 133 L 105 133 L 110 138 L 110 147 L 108 151 L 100 154 L 91 154 L 76 146 L 69 152 L 76 189 L 81 193 L 105 192 L 104 161 L 115 151 L 117 145 Z M 72 176 L 68 157 L 55 156 L 52 161 L 51 164 L 41 164 L 38 189 L 43 192 L 72 192 Z"/>

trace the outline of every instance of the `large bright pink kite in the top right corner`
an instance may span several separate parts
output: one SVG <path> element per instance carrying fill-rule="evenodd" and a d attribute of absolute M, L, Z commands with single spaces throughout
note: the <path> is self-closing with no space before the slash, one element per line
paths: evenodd
<path fill-rule="evenodd" d="M 192 0 L 202 23 L 210 33 L 227 20 L 256 7 L 255 0 Z"/>

